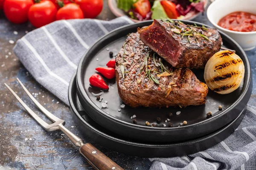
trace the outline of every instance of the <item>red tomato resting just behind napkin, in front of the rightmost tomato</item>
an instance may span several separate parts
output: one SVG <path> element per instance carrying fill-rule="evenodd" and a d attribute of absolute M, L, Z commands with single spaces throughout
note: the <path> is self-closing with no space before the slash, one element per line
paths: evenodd
<path fill-rule="evenodd" d="M 69 20 L 79 18 L 84 18 L 84 14 L 79 5 L 75 3 L 69 3 L 60 8 L 56 15 L 56 20 Z"/>

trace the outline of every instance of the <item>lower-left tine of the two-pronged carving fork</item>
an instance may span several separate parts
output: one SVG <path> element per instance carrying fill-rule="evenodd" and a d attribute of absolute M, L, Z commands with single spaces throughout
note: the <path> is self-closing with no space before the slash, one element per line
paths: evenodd
<path fill-rule="evenodd" d="M 12 88 L 9 87 L 9 85 L 7 85 L 6 83 L 4 83 L 4 85 L 9 89 L 9 91 L 11 91 L 11 93 L 13 94 L 13 96 L 15 96 L 15 98 L 20 102 L 20 104 L 26 109 L 26 111 L 45 129 L 47 128 L 47 126 L 49 126 L 49 124 L 47 122 L 44 122 L 43 119 L 41 119 L 39 116 L 37 116 L 37 114 L 35 114 L 35 112 L 33 112 L 28 105 L 26 105 L 26 103 L 24 103 L 22 101 L 22 99 L 20 99 L 20 97 L 12 90 Z"/>

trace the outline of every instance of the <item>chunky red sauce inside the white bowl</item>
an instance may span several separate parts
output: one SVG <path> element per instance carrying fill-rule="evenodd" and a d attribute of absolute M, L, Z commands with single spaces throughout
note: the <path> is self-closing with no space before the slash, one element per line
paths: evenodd
<path fill-rule="evenodd" d="M 242 11 L 233 12 L 221 18 L 218 26 L 231 31 L 256 31 L 256 15 Z"/>

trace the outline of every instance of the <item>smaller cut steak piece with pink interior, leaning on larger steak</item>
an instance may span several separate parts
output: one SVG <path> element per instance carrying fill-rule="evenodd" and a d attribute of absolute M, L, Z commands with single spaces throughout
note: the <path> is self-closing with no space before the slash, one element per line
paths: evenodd
<path fill-rule="evenodd" d="M 150 26 L 138 28 L 138 32 L 145 45 L 175 68 L 204 68 L 222 43 L 215 28 L 188 26 L 177 21 L 154 20 Z"/>

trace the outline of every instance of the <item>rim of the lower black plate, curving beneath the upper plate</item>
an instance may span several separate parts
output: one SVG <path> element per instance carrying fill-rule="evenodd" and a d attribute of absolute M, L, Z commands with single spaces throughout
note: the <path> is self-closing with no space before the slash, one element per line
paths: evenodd
<path fill-rule="evenodd" d="M 83 125 L 87 126 L 87 128 L 92 130 L 93 133 L 97 133 L 100 136 L 106 137 L 106 138 L 111 139 L 111 140 L 116 141 L 116 142 L 122 142 L 124 144 L 129 144 L 129 145 L 133 145 L 133 146 L 141 146 L 141 147 L 170 147 L 170 146 L 173 146 L 174 147 L 174 146 L 179 146 L 179 145 L 193 144 L 193 143 L 197 143 L 197 142 L 203 141 L 204 139 L 209 139 L 212 136 L 218 135 L 222 131 L 224 131 L 227 128 L 229 128 L 230 126 L 232 126 L 233 123 L 236 122 L 237 119 L 239 119 L 240 116 L 244 113 L 244 110 L 247 107 L 247 106 L 245 106 L 245 108 L 243 108 L 241 113 L 239 113 L 239 116 L 237 116 L 235 119 L 233 119 L 228 125 L 225 125 L 221 129 L 219 129 L 219 130 L 217 130 L 217 131 L 215 131 L 215 132 L 213 132 L 213 133 L 211 133 L 211 134 L 209 134 L 207 136 L 203 136 L 201 138 L 198 138 L 198 139 L 192 139 L 192 140 L 189 140 L 189 141 L 186 141 L 186 142 L 178 142 L 178 143 L 170 143 L 170 144 L 147 144 L 147 143 L 131 142 L 131 141 L 128 141 L 128 140 L 125 140 L 125 139 L 119 139 L 119 138 L 111 136 L 111 135 L 109 135 L 107 133 L 104 133 L 104 132 L 96 129 L 95 127 L 92 127 L 88 122 L 86 122 L 81 117 L 81 115 L 78 113 L 78 111 L 76 109 L 76 106 L 74 104 L 74 101 L 72 99 L 73 95 L 74 95 L 73 90 L 72 90 L 74 82 L 76 83 L 76 73 L 73 75 L 73 77 L 70 80 L 70 84 L 69 84 L 69 88 L 68 88 L 68 100 L 69 100 L 70 108 L 71 108 L 73 114 L 78 118 L 78 121 L 82 122 Z"/>

